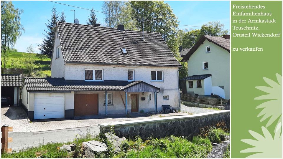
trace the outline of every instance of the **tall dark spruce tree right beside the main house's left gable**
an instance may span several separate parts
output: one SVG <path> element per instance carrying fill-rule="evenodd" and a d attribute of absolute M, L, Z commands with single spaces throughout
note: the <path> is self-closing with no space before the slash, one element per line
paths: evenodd
<path fill-rule="evenodd" d="M 55 27 L 56 22 L 59 17 L 57 14 L 55 6 L 52 8 L 52 13 L 50 15 L 50 20 L 48 20 L 48 23 L 46 25 L 47 30 L 44 29 L 46 34 L 44 35 L 45 38 L 42 40 L 42 44 L 39 45 L 40 53 L 46 55 L 47 57 L 51 58 L 52 51 L 53 51 L 53 43 L 55 38 Z"/>

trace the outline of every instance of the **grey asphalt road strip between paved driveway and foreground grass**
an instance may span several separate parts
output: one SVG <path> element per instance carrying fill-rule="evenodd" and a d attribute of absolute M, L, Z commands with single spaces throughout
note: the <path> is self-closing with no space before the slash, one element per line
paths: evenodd
<path fill-rule="evenodd" d="M 63 130 L 52 130 L 42 132 L 11 132 L 9 137 L 13 138 L 13 142 L 8 143 L 8 147 L 18 151 L 22 148 L 46 144 L 49 142 L 67 142 L 73 141 L 77 134 L 84 134 L 89 130 L 91 134 L 99 133 L 99 126 L 80 127 Z"/>

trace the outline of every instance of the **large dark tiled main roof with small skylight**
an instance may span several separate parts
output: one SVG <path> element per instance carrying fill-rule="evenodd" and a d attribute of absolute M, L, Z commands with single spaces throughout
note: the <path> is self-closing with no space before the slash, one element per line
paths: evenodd
<path fill-rule="evenodd" d="M 65 62 L 178 66 L 159 33 L 57 22 Z M 126 48 L 128 54 L 122 54 Z"/>

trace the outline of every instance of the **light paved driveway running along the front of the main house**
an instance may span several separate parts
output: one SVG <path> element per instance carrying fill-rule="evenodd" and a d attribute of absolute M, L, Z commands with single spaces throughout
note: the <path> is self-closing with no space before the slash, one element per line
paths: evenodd
<path fill-rule="evenodd" d="M 160 115 L 147 115 L 141 113 L 131 114 L 129 117 L 125 115 L 94 115 L 75 117 L 72 120 L 52 119 L 52 120 L 34 120 L 28 122 L 27 114 L 22 107 L 2 108 L 1 124 L 7 124 L 13 127 L 13 132 L 41 132 L 50 130 L 72 129 L 80 127 L 93 127 L 98 123 L 117 122 L 126 120 L 140 120 L 147 118 L 158 118 Z M 170 113 L 162 116 L 188 115 L 187 113 Z"/>

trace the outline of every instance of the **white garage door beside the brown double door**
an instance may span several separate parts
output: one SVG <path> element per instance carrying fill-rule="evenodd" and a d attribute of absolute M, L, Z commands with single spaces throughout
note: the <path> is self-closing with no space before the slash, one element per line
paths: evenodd
<path fill-rule="evenodd" d="M 34 95 L 34 119 L 64 117 L 64 93 L 36 93 Z"/>

